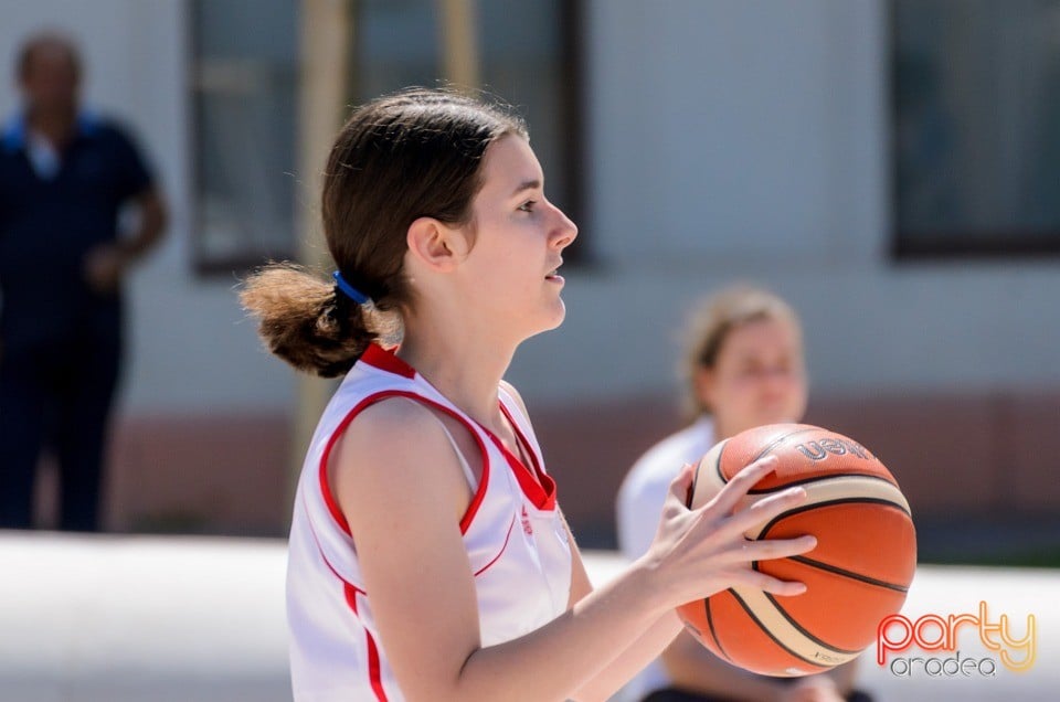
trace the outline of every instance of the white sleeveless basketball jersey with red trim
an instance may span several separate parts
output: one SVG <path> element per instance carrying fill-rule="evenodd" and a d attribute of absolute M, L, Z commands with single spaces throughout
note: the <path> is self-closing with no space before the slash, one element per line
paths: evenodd
<path fill-rule="evenodd" d="M 339 386 L 309 446 L 290 526 L 287 620 L 296 702 L 404 700 L 379 644 L 356 535 L 327 480 L 336 440 L 358 413 L 382 398 L 409 397 L 446 413 L 467 428 L 481 451 L 483 476 L 471 485 L 474 498 L 460 532 L 475 575 L 483 646 L 518 638 L 566 610 L 571 549 L 555 504 L 555 483 L 544 471 L 530 422 L 502 387 L 499 395 L 531 467 L 378 345 L 365 351 Z"/>

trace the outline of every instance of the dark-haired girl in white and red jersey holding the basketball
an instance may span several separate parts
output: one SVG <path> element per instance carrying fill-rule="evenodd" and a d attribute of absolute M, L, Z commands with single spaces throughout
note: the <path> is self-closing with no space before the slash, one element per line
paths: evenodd
<path fill-rule="evenodd" d="M 815 543 L 743 539 L 805 499 L 736 509 L 766 462 L 696 511 L 681 471 L 647 553 L 591 587 L 502 380 L 563 320 L 556 270 L 577 234 L 518 119 L 438 91 L 357 109 L 322 217 L 333 284 L 269 266 L 242 292 L 274 353 L 346 375 L 294 507 L 296 700 L 604 700 L 674 639 L 675 606 L 734 584 L 803 592 L 750 567 Z"/>

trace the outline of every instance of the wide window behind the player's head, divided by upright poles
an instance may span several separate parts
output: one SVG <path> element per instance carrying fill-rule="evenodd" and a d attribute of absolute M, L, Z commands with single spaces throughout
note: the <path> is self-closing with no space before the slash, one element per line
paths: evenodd
<path fill-rule="evenodd" d="M 441 0 L 357 0 L 350 104 L 442 84 Z M 483 87 L 530 123 L 549 198 L 579 221 L 577 0 L 473 2 Z M 298 2 L 192 0 L 195 263 L 244 269 L 295 251 Z M 581 223 L 581 222 L 580 222 Z M 575 246 L 571 249 L 576 258 Z"/>

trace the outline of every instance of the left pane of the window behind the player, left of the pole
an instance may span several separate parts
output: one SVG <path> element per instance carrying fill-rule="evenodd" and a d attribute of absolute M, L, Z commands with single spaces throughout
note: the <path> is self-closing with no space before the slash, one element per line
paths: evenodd
<path fill-rule="evenodd" d="M 295 242 L 295 0 L 194 0 L 194 259 L 229 273 Z"/>

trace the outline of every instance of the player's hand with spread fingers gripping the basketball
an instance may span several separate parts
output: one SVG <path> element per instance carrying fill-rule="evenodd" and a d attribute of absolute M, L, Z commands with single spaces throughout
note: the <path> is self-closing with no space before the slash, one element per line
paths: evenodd
<path fill-rule="evenodd" d="M 709 597 L 733 586 L 753 587 L 775 595 L 799 595 L 806 586 L 760 573 L 754 561 L 783 559 L 806 553 L 817 545 L 814 536 L 751 541 L 744 532 L 774 519 L 806 499 L 802 488 L 788 488 L 740 507 L 748 492 L 776 468 L 767 457 L 742 469 L 703 507 L 685 507 L 692 485 L 693 468 L 685 466 L 670 483 L 662 520 L 655 541 L 645 554 L 646 564 L 658 577 L 670 605 Z"/>

